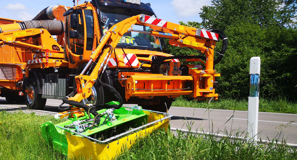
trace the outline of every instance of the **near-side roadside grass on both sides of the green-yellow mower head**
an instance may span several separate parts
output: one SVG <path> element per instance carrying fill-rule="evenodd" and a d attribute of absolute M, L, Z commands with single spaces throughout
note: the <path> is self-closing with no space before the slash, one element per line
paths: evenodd
<path fill-rule="evenodd" d="M 7 160 L 60 160 L 67 159 L 45 143 L 40 124 L 46 121 L 59 123 L 51 115 L 38 116 L 0 112 L 0 156 Z M 237 133 L 244 137 L 244 133 Z M 296 159 L 295 148 L 282 144 L 261 144 L 241 139 L 216 138 L 164 130 L 157 130 L 142 138 L 130 150 L 117 157 L 120 159 Z"/>

